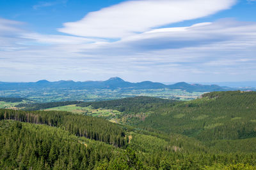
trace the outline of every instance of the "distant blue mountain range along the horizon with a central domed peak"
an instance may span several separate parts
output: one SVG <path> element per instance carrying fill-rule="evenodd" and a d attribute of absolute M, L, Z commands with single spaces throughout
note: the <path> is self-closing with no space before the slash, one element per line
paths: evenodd
<path fill-rule="evenodd" d="M 229 87 L 220 87 L 218 85 L 189 84 L 186 82 L 175 83 L 173 85 L 164 85 L 152 81 L 142 81 L 131 83 L 119 77 L 109 78 L 106 81 L 47 81 L 40 80 L 29 83 L 7 83 L 0 82 L 0 90 L 22 90 L 22 89 L 181 89 L 188 92 L 213 92 L 236 90 Z"/>

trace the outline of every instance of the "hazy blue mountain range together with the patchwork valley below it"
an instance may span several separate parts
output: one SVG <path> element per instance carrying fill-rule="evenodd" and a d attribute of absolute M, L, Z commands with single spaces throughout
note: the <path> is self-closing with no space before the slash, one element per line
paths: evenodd
<path fill-rule="evenodd" d="M 131 83 L 113 77 L 106 81 L 54 81 L 31 83 L 0 82 L 0 97 L 25 97 L 36 102 L 52 101 L 104 101 L 124 97 L 149 96 L 163 99 L 191 100 L 205 92 L 227 90 L 256 90 L 253 87 L 220 87 L 179 82 L 165 85 L 152 81 Z"/>

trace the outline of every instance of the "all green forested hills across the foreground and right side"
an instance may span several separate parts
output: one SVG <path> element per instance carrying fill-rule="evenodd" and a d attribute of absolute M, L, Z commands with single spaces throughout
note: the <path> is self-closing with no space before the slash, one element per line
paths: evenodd
<path fill-rule="evenodd" d="M 256 92 L 79 103 L 88 104 L 137 119 L 120 125 L 66 111 L 0 110 L 0 167 L 256 169 Z"/>

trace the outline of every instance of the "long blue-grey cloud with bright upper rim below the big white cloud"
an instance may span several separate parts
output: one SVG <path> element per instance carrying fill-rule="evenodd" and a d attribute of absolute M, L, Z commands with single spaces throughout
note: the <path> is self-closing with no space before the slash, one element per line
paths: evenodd
<path fill-rule="evenodd" d="M 134 53 L 164 49 L 179 49 L 195 46 L 233 42 L 239 44 L 234 48 L 244 48 L 255 43 L 256 24 L 254 22 L 237 22 L 236 20 L 222 19 L 216 22 L 207 22 L 191 25 L 190 27 L 171 27 L 154 29 L 152 31 L 122 38 L 113 43 L 105 42 L 92 45 L 97 53 Z M 84 52 L 92 53 L 92 46 Z M 231 46 L 231 45 L 230 45 Z M 219 48 L 222 48 L 220 46 Z M 245 47 L 246 48 L 246 47 Z"/>

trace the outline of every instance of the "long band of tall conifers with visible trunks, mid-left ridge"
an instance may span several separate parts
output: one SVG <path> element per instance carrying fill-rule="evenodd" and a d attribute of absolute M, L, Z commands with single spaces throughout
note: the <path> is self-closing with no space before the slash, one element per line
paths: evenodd
<path fill-rule="evenodd" d="M 0 120 L 17 120 L 33 124 L 63 127 L 76 136 L 104 141 L 116 147 L 125 147 L 125 130 L 102 118 L 72 115 L 65 111 L 0 110 Z"/>

